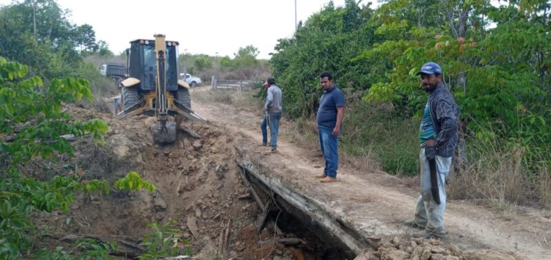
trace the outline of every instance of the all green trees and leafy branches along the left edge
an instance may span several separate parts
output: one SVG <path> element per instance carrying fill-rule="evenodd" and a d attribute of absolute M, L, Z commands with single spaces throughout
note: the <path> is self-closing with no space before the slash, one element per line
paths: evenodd
<path fill-rule="evenodd" d="M 113 243 L 82 240 L 72 248 L 51 252 L 36 248 L 33 242 L 37 230 L 30 216 L 36 211 L 67 212 L 78 192 L 110 193 L 107 181 L 87 180 L 83 169 L 48 179 L 21 171 L 37 156 L 49 160 L 72 156 L 65 135 L 90 135 L 103 143 L 107 132 L 102 120 L 72 120 L 62 107 L 63 103 L 93 102 L 98 91 L 108 91 L 101 88 L 104 78 L 96 65 L 83 62 L 84 56 L 101 55 L 107 46 L 96 45 L 90 25 L 72 25 L 66 15 L 48 0 L 0 9 L 0 259 L 106 259 L 116 250 Z M 135 183 L 154 189 L 141 181 Z"/>

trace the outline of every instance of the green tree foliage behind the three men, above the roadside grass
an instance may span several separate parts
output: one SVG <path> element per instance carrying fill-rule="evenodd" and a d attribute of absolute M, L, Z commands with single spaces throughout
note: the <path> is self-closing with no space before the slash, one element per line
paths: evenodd
<path fill-rule="evenodd" d="M 318 74 L 329 71 L 365 102 L 415 117 L 427 98 L 415 72 L 435 61 L 468 133 L 512 140 L 534 162 L 551 147 L 550 8 L 543 0 L 329 3 L 280 39 L 271 63 L 291 116 L 315 111 Z"/>

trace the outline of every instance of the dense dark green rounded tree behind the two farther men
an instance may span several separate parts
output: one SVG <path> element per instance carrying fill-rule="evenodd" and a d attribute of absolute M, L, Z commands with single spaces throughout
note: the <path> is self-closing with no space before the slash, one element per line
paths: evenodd
<path fill-rule="evenodd" d="M 274 76 L 285 86 L 285 109 L 292 117 L 309 116 L 321 94 L 318 75 L 329 71 L 341 88 L 366 89 L 368 64 L 355 59 L 373 45 L 375 28 L 367 24 L 369 6 L 346 1 L 342 8 L 330 2 L 313 14 L 291 39 L 280 39 L 271 58 Z"/>

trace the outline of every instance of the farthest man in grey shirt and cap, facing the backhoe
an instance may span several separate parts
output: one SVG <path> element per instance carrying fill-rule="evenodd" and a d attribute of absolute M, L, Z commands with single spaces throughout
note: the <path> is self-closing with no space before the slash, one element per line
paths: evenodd
<path fill-rule="evenodd" d="M 264 154 L 269 155 L 270 153 L 278 152 L 282 93 L 281 89 L 275 85 L 275 78 L 269 77 L 264 84 L 268 85 L 264 109 L 268 114 L 268 125 L 270 127 L 270 149 Z"/>

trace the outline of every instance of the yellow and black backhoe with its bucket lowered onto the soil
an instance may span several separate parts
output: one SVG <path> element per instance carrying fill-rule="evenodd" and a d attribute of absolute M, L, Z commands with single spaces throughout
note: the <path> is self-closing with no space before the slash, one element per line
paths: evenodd
<path fill-rule="evenodd" d="M 128 78 L 121 82 L 121 116 L 156 116 L 150 126 L 158 144 L 176 141 L 176 123 L 184 118 L 207 121 L 191 110 L 189 85 L 178 79 L 177 41 L 137 39 L 127 49 Z"/>

